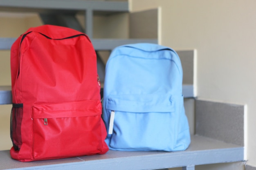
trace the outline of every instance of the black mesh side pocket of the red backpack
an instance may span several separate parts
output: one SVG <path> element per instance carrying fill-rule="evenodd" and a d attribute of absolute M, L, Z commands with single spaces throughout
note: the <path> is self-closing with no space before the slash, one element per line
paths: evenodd
<path fill-rule="evenodd" d="M 14 150 L 20 150 L 22 145 L 21 139 L 21 122 L 23 117 L 23 104 L 12 104 L 10 135 Z"/>

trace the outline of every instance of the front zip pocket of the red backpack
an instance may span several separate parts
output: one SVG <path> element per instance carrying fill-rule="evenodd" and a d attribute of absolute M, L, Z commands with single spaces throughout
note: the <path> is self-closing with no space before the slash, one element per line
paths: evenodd
<path fill-rule="evenodd" d="M 36 104 L 32 106 L 32 121 L 32 159 L 101 152 L 100 101 Z"/>

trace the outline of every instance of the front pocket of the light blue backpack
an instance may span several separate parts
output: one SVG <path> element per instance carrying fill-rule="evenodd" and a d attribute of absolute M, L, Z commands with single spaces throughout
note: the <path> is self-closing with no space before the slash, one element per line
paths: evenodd
<path fill-rule="evenodd" d="M 116 95 L 106 99 L 112 150 L 173 150 L 175 103 L 171 95 Z M 115 112 L 115 118 L 111 116 Z M 106 122 L 108 124 L 108 122 Z"/>

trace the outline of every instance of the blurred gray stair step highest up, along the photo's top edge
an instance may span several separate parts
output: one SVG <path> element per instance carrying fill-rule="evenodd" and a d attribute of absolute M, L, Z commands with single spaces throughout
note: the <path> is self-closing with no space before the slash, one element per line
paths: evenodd
<path fill-rule="evenodd" d="M 1 0 L 0 10 L 42 12 L 64 11 L 109 11 L 128 12 L 128 2 L 97 0 Z"/>

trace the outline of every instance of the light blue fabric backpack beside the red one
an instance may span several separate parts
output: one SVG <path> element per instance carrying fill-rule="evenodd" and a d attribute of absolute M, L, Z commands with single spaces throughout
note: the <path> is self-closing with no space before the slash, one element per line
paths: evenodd
<path fill-rule="evenodd" d="M 185 150 L 189 125 L 182 65 L 166 46 L 139 43 L 114 49 L 106 64 L 103 120 L 111 150 Z"/>

